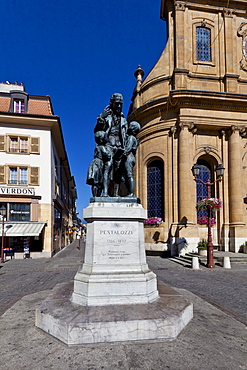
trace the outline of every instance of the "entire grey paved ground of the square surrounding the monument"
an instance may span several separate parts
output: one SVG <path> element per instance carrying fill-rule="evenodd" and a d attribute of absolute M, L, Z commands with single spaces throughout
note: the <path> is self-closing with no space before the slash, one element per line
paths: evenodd
<path fill-rule="evenodd" d="M 193 303 L 193 319 L 173 341 L 67 347 L 36 328 L 35 309 L 58 282 L 73 279 L 83 261 L 83 248 L 76 247 L 73 243 L 52 259 L 0 265 L 0 369 L 247 370 L 247 331 L 240 322 L 246 320 L 244 265 L 193 271 L 169 259 L 148 257 L 158 278 L 185 288 L 179 292 Z"/>

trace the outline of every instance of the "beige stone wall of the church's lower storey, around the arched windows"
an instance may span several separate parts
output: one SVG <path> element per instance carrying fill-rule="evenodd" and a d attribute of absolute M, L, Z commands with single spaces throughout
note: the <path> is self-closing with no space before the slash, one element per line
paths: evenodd
<path fill-rule="evenodd" d="M 195 113 L 195 116 L 193 116 Z M 180 135 L 183 130 L 179 127 L 179 124 L 175 126 L 175 131 L 171 133 L 170 130 L 166 129 L 159 132 L 151 132 L 149 134 L 145 130 L 140 133 L 140 148 L 137 152 L 137 163 L 136 163 L 136 185 L 137 185 L 137 196 L 142 200 L 143 206 L 147 207 L 147 165 L 151 160 L 161 159 L 164 162 L 164 210 L 165 219 L 162 224 L 163 241 L 167 241 L 169 237 L 169 232 L 176 230 L 176 225 L 179 224 L 181 218 L 185 216 L 190 222 L 190 227 L 184 228 L 180 232 L 180 236 L 189 237 L 195 236 L 199 239 L 205 238 L 205 227 L 198 226 L 196 224 L 196 185 L 193 180 L 192 173 L 190 171 L 192 165 L 199 159 L 204 158 L 214 165 L 214 168 L 220 163 L 226 167 L 226 172 L 224 174 L 224 179 L 222 183 L 216 186 L 216 196 L 219 196 L 224 202 L 224 208 L 220 210 L 217 215 L 217 227 L 213 228 L 213 242 L 217 245 L 221 245 L 222 249 L 227 249 L 229 237 L 229 227 L 234 227 L 234 235 L 238 238 L 243 238 L 247 235 L 246 220 L 247 213 L 246 207 L 243 203 L 243 198 L 246 195 L 246 172 L 247 154 L 246 154 L 246 139 L 241 136 L 238 137 L 239 144 L 234 144 L 234 149 L 238 151 L 237 158 L 239 159 L 238 166 L 236 167 L 234 158 L 231 158 L 231 146 L 229 144 L 229 139 L 231 135 L 231 126 L 229 122 L 232 123 L 236 119 L 235 112 L 231 114 L 228 112 L 226 117 L 222 118 L 222 111 L 210 111 L 206 115 L 200 114 L 198 110 L 193 112 L 190 109 L 188 112 L 183 110 L 183 117 L 188 117 L 194 122 L 194 126 L 198 129 L 195 133 L 191 132 L 189 127 L 186 128 L 186 137 L 183 138 L 182 142 L 180 140 Z M 203 122 L 199 117 L 203 116 Z M 221 116 L 221 126 L 214 124 L 214 120 Z M 231 117 L 232 116 L 232 117 Z M 241 120 L 247 120 L 247 115 L 241 114 Z M 153 119 L 152 122 L 155 122 Z M 178 119 L 179 122 L 179 119 Z M 227 126 L 227 134 L 224 134 Z M 152 127 L 152 124 L 151 124 Z M 222 128 L 225 131 L 222 133 Z M 145 135 L 144 135 L 145 134 Z M 239 135 L 239 134 L 238 134 Z M 183 146 L 183 153 L 181 158 L 179 151 Z M 243 158 L 243 161 L 242 161 Z M 182 160 L 184 162 L 182 162 Z M 232 163 L 231 163 L 232 162 Z M 179 165 L 180 163 L 180 170 Z M 238 174 L 230 175 L 233 178 L 238 176 L 238 181 L 232 180 L 232 188 L 230 189 L 229 184 L 229 167 L 238 168 Z M 234 190 L 236 184 L 238 183 L 237 193 Z M 241 185 L 239 185 L 241 183 Z M 235 193 L 234 193 L 235 192 Z M 230 198 L 229 198 L 230 193 Z M 240 221 L 231 217 L 234 216 L 234 210 L 229 210 L 229 199 L 234 204 L 233 195 L 238 197 L 237 207 L 235 213 L 237 216 L 240 215 Z M 182 200 L 182 202 L 181 202 Z M 183 201 L 185 200 L 185 201 Z M 181 204 L 182 203 L 182 204 Z M 234 225 L 233 225 L 234 222 Z M 236 222 L 242 222 L 244 225 L 237 225 Z M 224 232 L 226 230 L 226 232 Z M 150 243 L 150 231 L 146 230 L 147 239 L 146 241 Z M 225 235 L 226 234 L 226 235 Z"/>

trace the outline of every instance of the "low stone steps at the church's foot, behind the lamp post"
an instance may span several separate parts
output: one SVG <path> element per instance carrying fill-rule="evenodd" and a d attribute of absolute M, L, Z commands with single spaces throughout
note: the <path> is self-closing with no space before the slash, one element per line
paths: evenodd
<path fill-rule="evenodd" d="M 197 253 L 186 253 L 184 256 L 170 257 L 169 259 L 184 267 L 191 267 L 192 257 L 199 257 L 200 264 L 202 265 L 205 265 L 207 262 L 207 256 L 199 256 Z M 231 264 L 235 264 L 235 263 L 247 264 L 247 254 L 245 253 L 214 251 L 214 263 L 215 264 L 222 266 L 223 257 L 229 257 Z"/>

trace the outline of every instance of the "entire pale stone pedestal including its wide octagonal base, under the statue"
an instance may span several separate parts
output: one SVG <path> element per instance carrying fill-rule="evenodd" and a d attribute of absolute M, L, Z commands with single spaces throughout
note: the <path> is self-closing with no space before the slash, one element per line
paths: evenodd
<path fill-rule="evenodd" d="M 193 306 L 164 283 L 159 295 L 146 263 L 146 217 L 135 198 L 91 199 L 82 269 L 74 282 L 54 288 L 36 326 L 68 345 L 175 339 Z"/>

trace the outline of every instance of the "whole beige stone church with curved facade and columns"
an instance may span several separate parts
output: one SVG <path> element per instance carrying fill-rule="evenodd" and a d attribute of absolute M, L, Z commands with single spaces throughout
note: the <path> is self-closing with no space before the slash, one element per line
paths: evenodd
<path fill-rule="evenodd" d="M 139 66 L 129 121 L 141 124 L 136 194 L 149 216 L 146 246 L 172 255 L 196 251 L 207 238 L 196 202 L 203 181 L 222 181 L 211 196 L 222 200 L 212 227 L 219 250 L 239 252 L 247 240 L 247 1 L 161 1 L 166 47 L 143 80 Z M 160 37 L 160 35 L 157 35 Z"/>

